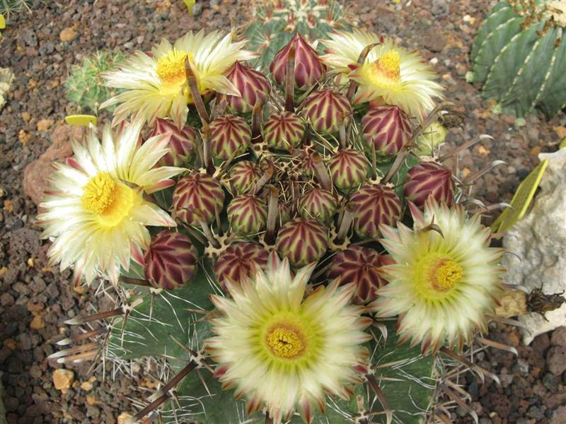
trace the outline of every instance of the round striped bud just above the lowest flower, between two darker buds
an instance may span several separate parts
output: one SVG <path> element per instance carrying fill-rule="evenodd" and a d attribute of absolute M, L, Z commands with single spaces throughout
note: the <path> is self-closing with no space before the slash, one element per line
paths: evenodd
<path fill-rule="evenodd" d="M 328 229 L 316 220 L 295 218 L 279 228 L 275 249 L 291 266 L 311 264 L 328 249 Z"/>

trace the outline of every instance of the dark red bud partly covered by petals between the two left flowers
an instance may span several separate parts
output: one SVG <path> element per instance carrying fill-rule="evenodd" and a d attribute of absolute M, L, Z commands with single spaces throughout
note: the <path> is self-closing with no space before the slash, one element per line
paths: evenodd
<path fill-rule="evenodd" d="M 180 166 L 187 163 L 195 148 L 195 130 L 188 125 L 179 130 L 173 121 L 157 118 L 148 139 L 161 134 L 169 137 L 169 150 L 159 160 L 159 164 L 162 166 Z"/>

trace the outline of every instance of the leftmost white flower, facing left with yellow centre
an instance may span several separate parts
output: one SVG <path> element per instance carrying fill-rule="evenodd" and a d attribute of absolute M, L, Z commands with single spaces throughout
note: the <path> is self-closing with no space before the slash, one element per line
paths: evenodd
<path fill-rule="evenodd" d="M 120 267 L 129 269 L 133 258 L 143 263 L 142 250 L 150 242 L 146 225 L 175 226 L 161 208 L 143 194 L 174 184 L 180 167 L 156 167 L 168 152 L 168 138 L 155 136 L 141 144 L 143 122 L 112 134 L 109 126 L 102 142 L 91 127 L 86 143 L 74 141 L 74 156 L 58 163 L 50 177 L 37 216 L 43 238 L 54 237 L 48 256 L 61 269 L 74 265 L 74 281 L 91 283 L 107 278 L 117 283 Z"/>

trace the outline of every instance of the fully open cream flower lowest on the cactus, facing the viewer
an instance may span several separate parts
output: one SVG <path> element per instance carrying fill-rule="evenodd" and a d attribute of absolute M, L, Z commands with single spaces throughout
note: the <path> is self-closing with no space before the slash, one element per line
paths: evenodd
<path fill-rule="evenodd" d="M 224 389 L 248 401 L 248 413 L 267 408 L 274 424 L 295 412 L 311 422 L 325 410 L 325 394 L 352 396 L 362 381 L 368 352 L 362 343 L 371 318 L 350 305 L 355 285 L 333 281 L 304 300 L 306 266 L 291 277 L 289 261 L 270 255 L 266 271 L 227 284 L 232 299 L 213 295 L 221 317 L 212 319 L 216 336 L 205 343 L 218 365 Z"/>

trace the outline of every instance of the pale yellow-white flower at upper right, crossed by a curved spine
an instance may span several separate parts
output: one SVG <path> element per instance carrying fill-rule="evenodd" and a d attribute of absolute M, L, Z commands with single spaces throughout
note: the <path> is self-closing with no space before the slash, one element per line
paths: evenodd
<path fill-rule="evenodd" d="M 328 54 L 321 57 L 333 71 L 345 73 L 359 83 L 354 103 L 377 101 L 397 105 L 410 116 L 422 120 L 434 108 L 434 98 L 442 98 L 437 75 L 417 52 L 395 45 L 388 37 L 354 29 L 337 31 L 330 40 L 321 40 Z M 364 48 L 369 50 L 358 64 Z"/>

